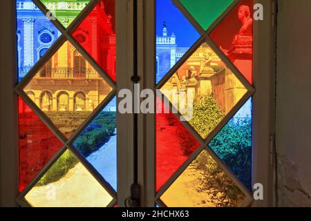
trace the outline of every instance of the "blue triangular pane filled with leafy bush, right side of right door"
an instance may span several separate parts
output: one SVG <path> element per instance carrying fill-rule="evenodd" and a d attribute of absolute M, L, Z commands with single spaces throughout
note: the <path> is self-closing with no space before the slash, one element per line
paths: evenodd
<path fill-rule="evenodd" d="M 252 98 L 209 144 L 236 176 L 252 189 Z"/>

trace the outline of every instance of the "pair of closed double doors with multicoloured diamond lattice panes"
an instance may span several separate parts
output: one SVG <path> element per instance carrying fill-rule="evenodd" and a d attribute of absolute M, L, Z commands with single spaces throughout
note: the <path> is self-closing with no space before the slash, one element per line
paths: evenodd
<path fill-rule="evenodd" d="M 273 204 L 274 1 L 4 2 L 8 206 Z"/>

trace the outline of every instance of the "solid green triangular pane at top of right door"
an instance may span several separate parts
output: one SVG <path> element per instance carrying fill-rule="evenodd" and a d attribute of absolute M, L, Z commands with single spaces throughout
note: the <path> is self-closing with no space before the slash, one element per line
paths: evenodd
<path fill-rule="evenodd" d="M 233 0 L 180 0 L 188 12 L 207 30 Z"/>

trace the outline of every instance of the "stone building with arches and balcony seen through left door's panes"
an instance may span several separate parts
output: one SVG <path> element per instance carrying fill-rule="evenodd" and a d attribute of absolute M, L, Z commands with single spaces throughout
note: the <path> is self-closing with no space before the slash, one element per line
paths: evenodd
<path fill-rule="evenodd" d="M 56 1 L 44 3 L 48 4 L 48 8 L 57 9 L 57 15 L 65 15 L 61 12 L 66 11 L 65 16 L 57 16 L 66 26 L 66 22 L 69 24 L 73 21 L 88 1 L 76 1 L 70 3 L 70 6 L 58 6 Z M 103 22 L 97 19 L 98 14 L 106 22 L 109 16 L 105 14 L 103 3 L 84 20 L 89 25 L 80 25 L 73 37 L 100 66 L 105 67 L 103 69 L 106 73 L 115 75 L 114 30 L 106 30 L 111 26 L 103 28 Z M 111 35 L 105 35 L 107 32 Z M 29 72 L 60 35 L 32 1 L 17 1 L 19 79 Z M 93 41 L 95 35 L 100 35 L 100 41 Z M 93 111 L 109 94 L 111 87 L 79 51 L 66 41 L 24 90 L 42 111 Z M 114 99 L 105 110 L 115 111 L 115 105 Z"/>

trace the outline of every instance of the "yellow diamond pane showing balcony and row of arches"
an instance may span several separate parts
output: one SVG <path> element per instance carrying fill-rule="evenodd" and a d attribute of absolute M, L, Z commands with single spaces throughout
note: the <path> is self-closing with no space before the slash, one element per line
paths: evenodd
<path fill-rule="evenodd" d="M 66 41 L 23 90 L 69 137 L 112 88 Z"/>

